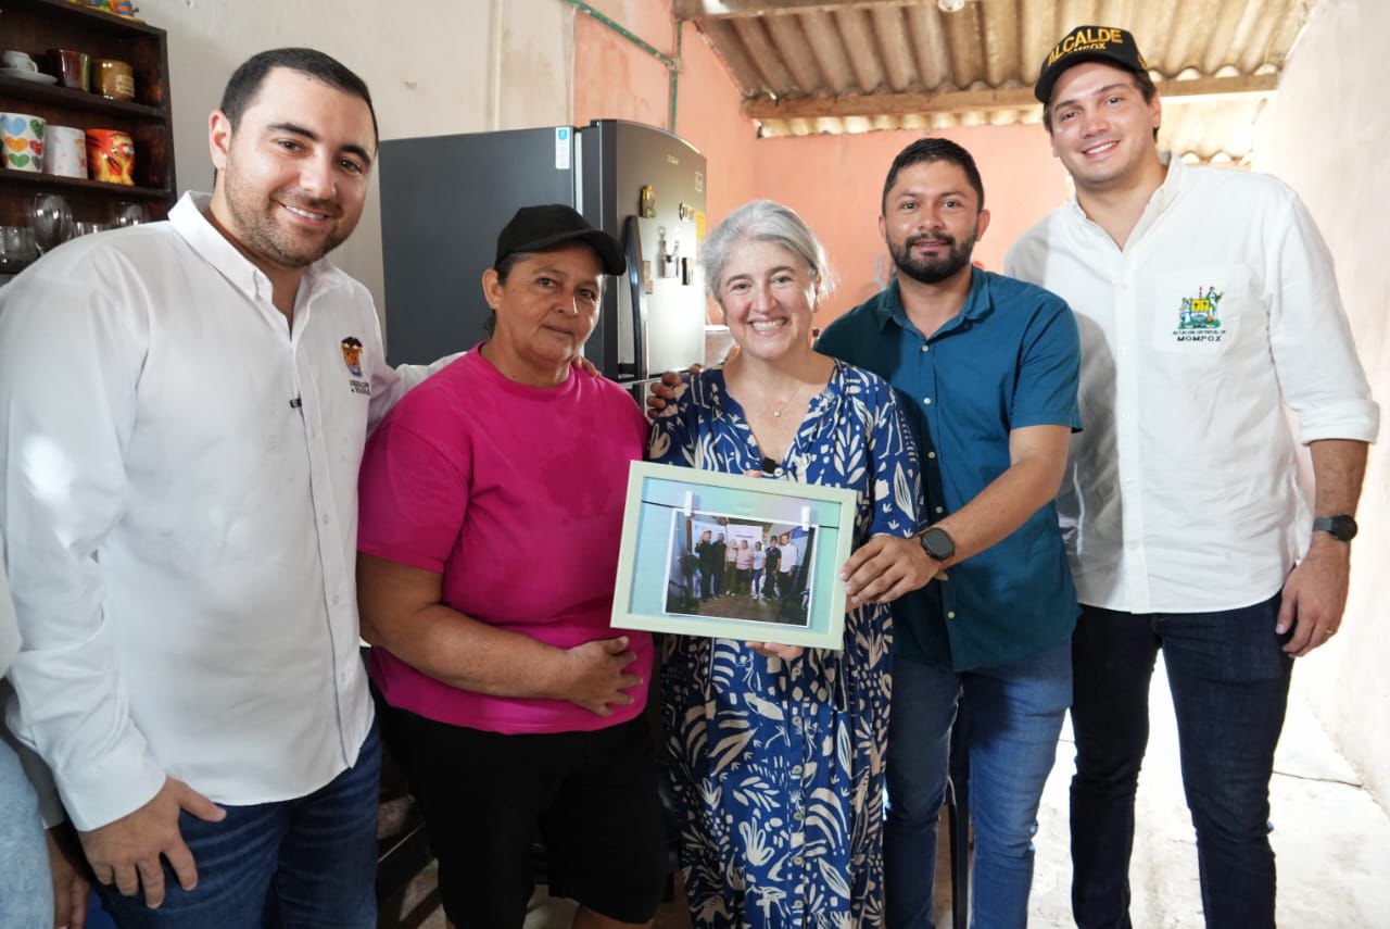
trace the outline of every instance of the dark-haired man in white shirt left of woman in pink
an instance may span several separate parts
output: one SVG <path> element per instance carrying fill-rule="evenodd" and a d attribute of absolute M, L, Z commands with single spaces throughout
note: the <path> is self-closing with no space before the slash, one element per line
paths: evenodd
<path fill-rule="evenodd" d="M 208 145 L 210 197 L 0 292 L 8 722 L 122 928 L 374 926 L 356 480 L 407 384 L 324 255 L 375 114 L 342 64 L 281 49 L 232 75 Z"/>

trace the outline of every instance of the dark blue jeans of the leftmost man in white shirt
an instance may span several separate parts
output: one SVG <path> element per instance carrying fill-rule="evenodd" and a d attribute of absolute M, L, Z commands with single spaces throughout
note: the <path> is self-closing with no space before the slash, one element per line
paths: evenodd
<path fill-rule="evenodd" d="M 381 741 L 373 725 L 357 764 L 307 797 L 224 807 L 222 822 L 179 816 L 197 864 L 183 890 L 164 865 L 158 910 L 101 887 L 121 929 L 374 929 Z"/>

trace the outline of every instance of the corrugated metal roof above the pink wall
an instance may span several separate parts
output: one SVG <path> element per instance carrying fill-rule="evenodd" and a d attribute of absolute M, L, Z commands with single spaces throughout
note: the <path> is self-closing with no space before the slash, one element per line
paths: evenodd
<path fill-rule="evenodd" d="M 1244 163 L 1320 0 L 676 0 L 766 136 L 1037 122 L 1044 56 L 1077 25 L 1134 33 L 1163 95 L 1161 143 Z"/>

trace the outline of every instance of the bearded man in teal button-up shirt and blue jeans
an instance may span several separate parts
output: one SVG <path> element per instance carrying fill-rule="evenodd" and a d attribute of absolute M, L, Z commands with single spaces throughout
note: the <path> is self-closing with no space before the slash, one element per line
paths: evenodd
<path fill-rule="evenodd" d="M 962 694 L 974 922 L 1027 922 L 1038 800 L 1072 697 L 1079 609 L 1052 498 L 1080 428 L 1080 342 L 1059 298 L 970 264 L 988 221 L 965 149 L 947 139 L 908 146 L 888 172 L 878 220 L 898 280 L 817 342 L 902 395 L 926 478 L 924 544 L 948 569 L 894 604 L 890 926 L 931 925 L 935 830 Z M 874 558 L 870 545 L 851 560 L 851 595 L 873 598 L 855 569 Z"/>

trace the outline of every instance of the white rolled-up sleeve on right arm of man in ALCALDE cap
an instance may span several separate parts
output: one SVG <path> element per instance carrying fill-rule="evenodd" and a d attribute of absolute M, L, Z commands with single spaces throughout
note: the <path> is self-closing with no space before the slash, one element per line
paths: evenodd
<path fill-rule="evenodd" d="M 1265 268 L 1269 344 L 1280 394 L 1298 423 L 1300 442 L 1373 442 L 1380 407 L 1371 398 L 1357 356 L 1332 253 L 1291 192 L 1287 209 L 1287 218 L 1270 227 L 1275 241 Z"/>

